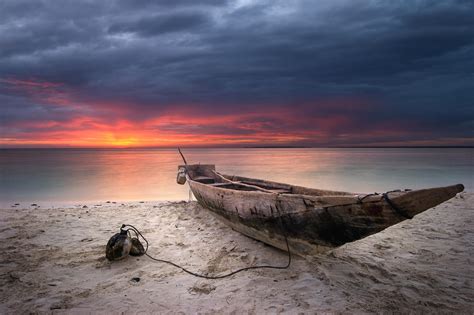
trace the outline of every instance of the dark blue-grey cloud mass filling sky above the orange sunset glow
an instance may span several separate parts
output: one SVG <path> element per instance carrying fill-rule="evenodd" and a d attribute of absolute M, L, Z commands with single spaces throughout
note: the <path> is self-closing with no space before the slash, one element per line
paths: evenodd
<path fill-rule="evenodd" d="M 376 120 L 469 138 L 473 12 L 472 1 L 2 1 L 0 77 L 62 83 L 79 104 L 128 104 L 138 120 L 304 104 L 311 117 L 348 115 L 354 132 Z M 2 120 L 34 116 L 0 93 Z"/>

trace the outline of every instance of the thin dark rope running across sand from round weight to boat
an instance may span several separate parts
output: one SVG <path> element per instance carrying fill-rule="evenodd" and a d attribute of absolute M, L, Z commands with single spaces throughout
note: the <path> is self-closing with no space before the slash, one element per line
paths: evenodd
<path fill-rule="evenodd" d="M 278 213 L 280 214 L 280 210 L 278 209 L 277 207 L 277 210 L 278 210 Z M 161 262 L 161 263 L 165 263 L 165 264 L 168 264 L 168 265 L 171 265 L 171 266 L 174 266 L 178 269 L 181 269 L 182 271 L 192 275 L 192 276 L 195 276 L 195 277 L 198 277 L 198 278 L 205 278 L 205 279 L 223 279 L 223 278 L 227 278 L 227 277 L 230 277 L 230 276 L 233 276 L 239 272 L 242 272 L 242 271 L 247 271 L 247 270 L 252 270 L 252 269 L 288 269 L 290 267 L 290 264 L 291 264 L 291 252 L 290 252 L 290 245 L 288 244 L 288 237 L 286 235 L 286 232 L 285 230 L 283 229 L 283 220 L 281 218 L 281 215 L 279 215 L 279 219 L 280 219 L 280 227 L 282 229 L 282 232 L 283 232 L 283 235 L 285 236 L 285 242 L 286 242 L 286 250 L 287 250 L 287 253 L 288 253 L 288 263 L 285 265 L 285 266 L 272 266 L 272 265 L 257 265 L 257 266 L 249 266 L 249 267 L 244 267 L 244 268 L 240 268 L 240 269 L 237 269 L 237 270 L 234 270 L 232 272 L 229 272 L 227 274 L 223 274 L 223 275 L 216 275 L 216 276 L 208 276 L 208 275 L 204 275 L 204 274 L 199 274 L 199 273 L 196 273 L 196 272 L 192 272 L 180 265 L 178 265 L 177 263 L 174 263 L 172 261 L 169 261 L 169 260 L 165 260 L 165 259 L 160 259 L 160 258 L 156 258 L 156 257 L 153 257 L 151 256 L 150 254 L 148 254 L 148 247 L 149 247 L 149 243 L 148 243 L 148 240 L 143 236 L 143 234 L 136 228 L 134 227 L 133 225 L 131 224 L 123 224 L 122 225 L 122 229 L 125 228 L 125 227 L 129 227 L 136 235 L 137 235 L 137 238 L 138 238 L 138 235 L 140 235 L 140 237 L 145 241 L 145 244 L 146 244 L 146 247 L 145 247 L 145 255 L 148 256 L 148 258 L 150 258 L 151 260 L 154 260 L 154 261 L 157 261 L 157 262 Z M 129 230 L 130 230 L 129 229 Z"/>

